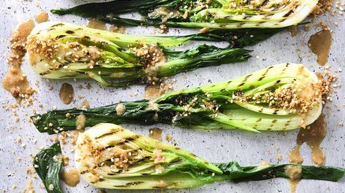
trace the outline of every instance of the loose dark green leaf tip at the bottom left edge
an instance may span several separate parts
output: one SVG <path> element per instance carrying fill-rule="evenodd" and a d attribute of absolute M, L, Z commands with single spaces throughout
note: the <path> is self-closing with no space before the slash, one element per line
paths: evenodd
<path fill-rule="evenodd" d="M 63 193 L 59 181 L 62 158 L 59 142 L 44 148 L 34 157 L 34 169 L 43 181 L 48 193 Z"/>

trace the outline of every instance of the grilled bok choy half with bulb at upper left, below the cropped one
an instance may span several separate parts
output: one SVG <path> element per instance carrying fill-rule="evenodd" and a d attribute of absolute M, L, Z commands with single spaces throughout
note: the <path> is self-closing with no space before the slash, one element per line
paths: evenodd
<path fill-rule="evenodd" d="M 44 78 L 92 78 L 106 86 L 156 82 L 199 67 L 246 61 L 242 48 L 198 45 L 186 51 L 167 49 L 193 39 L 217 39 L 217 34 L 190 36 L 131 36 L 70 23 L 48 22 L 28 36 L 32 69 Z M 262 36 L 261 38 L 265 38 Z M 234 44 L 250 45 L 246 35 Z"/>

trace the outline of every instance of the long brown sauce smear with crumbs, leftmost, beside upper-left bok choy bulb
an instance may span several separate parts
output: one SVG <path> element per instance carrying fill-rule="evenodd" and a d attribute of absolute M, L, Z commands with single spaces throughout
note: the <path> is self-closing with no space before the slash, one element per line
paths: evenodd
<path fill-rule="evenodd" d="M 14 98 L 21 100 L 34 93 L 26 75 L 21 71 L 21 63 L 26 54 L 26 38 L 34 28 L 32 19 L 20 23 L 12 31 L 10 38 L 10 57 L 8 58 L 8 71 L 3 78 L 3 88 L 9 91 Z"/>

